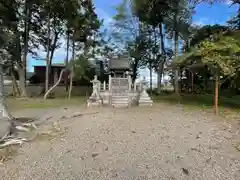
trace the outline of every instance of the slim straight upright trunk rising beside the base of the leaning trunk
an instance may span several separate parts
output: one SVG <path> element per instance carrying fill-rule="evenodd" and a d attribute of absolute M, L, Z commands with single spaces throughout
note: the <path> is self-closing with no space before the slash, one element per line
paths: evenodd
<path fill-rule="evenodd" d="M 45 72 L 45 92 L 49 86 L 49 69 L 50 69 L 50 13 L 48 14 L 48 40 L 47 40 L 47 55 L 46 55 L 46 72 Z"/>

